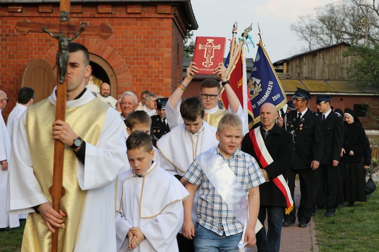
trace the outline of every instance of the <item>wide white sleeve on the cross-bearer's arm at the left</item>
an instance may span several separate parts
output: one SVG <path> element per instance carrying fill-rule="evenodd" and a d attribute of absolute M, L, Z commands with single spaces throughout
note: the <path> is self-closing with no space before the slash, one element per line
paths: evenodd
<path fill-rule="evenodd" d="M 34 176 L 25 129 L 24 113 L 18 121 L 12 138 L 12 169 L 9 170 L 8 204 L 9 214 L 34 212 L 32 207 L 48 202 Z"/>

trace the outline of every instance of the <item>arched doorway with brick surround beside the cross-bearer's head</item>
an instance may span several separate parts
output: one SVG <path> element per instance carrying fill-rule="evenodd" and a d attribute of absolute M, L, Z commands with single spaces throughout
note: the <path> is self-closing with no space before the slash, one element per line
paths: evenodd
<path fill-rule="evenodd" d="M 117 78 L 112 67 L 103 58 L 89 54 L 89 64 L 92 67 L 92 74 L 107 82 L 111 86 L 111 96 L 117 99 Z"/>

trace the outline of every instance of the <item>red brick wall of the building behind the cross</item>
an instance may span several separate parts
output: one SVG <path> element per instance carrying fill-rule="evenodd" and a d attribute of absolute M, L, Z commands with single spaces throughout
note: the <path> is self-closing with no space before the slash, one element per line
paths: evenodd
<path fill-rule="evenodd" d="M 59 5 L 0 5 L 0 89 L 10 102 L 3 116 L 15 106 L 22 72 L 33 59 L 45 59 L 53 67 L 57 40 L 48 34 L 22 35 L 17 22 L 58 23 Z M 89 52 L 105 59 L 116 73 L 118 95 L 146 89 L 168 97 L 182 80 L 182 14 L 176 5 L 72 4 L 70 23 L 99 26 L 108 23 L 113 35 L 108 39 L 79 36 Z"/>

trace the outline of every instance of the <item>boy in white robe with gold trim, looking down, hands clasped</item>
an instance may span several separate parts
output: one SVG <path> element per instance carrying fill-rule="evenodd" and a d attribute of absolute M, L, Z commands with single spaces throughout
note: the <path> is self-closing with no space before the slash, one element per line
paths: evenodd
<path fill-rule="evenodd" d="M 132 169 L 118 178 L 117 250 L 178 251 L 176 234 L 183 224 L 182 200 L 188 191 L 153 161 L 148 134 L 132 132 L 126 146 Z"/>

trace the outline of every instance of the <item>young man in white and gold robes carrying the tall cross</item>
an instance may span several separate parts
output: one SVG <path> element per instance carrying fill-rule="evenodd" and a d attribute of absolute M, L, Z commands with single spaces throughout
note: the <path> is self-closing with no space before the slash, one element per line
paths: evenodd
<path fill-rule="evenodd" d="M 57 227 L 59 251 L 115 251 L 114 180 L 125 160 L 118 113 L 86 89 L 87 48 L 69 43 L 66 121 L 55 119 L 56 88 L 30 106 L 17 125 L 9 175 L 9 213 L 31 213 L 22 250 L 49 251 Z M 64 143 L 65 193 L 52 207 L 54 140 Z"/>

